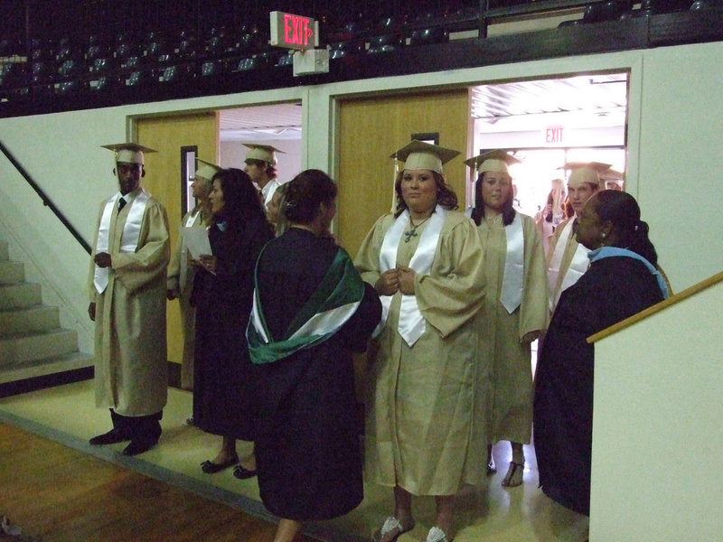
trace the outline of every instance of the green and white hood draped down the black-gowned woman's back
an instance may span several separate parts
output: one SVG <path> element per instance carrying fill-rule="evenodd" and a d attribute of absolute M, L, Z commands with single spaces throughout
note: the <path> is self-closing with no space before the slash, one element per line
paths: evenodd
<path fill-rule="evenodd" d="M 315 294 L 296 314 L 284 336 L 276 338 L 271 336 L 258 296 L 258 266 L 254 283 L 246 338 L 251 361 L 256 364 L 282 360 L 298 350 L 326 341 L 352 317 L 364 296 L 362 277 L 354 268 L 352 258 L 339 248 Z"/>

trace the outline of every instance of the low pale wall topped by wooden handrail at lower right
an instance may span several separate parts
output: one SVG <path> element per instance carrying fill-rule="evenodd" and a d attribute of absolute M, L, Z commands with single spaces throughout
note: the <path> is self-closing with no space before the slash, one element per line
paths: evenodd
<path fill-rule="evenodd" d="M 720 540 L 723 283 L 595 345 L 591 542 Z"/>

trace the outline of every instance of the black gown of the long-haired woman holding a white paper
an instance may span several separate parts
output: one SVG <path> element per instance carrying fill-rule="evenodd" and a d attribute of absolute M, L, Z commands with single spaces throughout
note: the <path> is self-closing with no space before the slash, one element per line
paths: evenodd
<path fill-rule="evenodd" d="M 271 229 L 260 218 L 238 229 L 209 229 L 211 250 L 218 257 L 216 275 L 204 270 L 196 273 L 192 294 L 196 305 L 193 423 L 207 433 L 247 441 L 254 438 L 246 326 L 254 266 L 271 238 Z"/>

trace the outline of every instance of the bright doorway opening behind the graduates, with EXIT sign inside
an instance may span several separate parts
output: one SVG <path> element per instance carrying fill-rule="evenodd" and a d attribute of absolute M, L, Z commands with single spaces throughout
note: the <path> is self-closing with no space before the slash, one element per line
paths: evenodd
<path fill-rule="evenodd" d="M 474 87 L 474 154 L 503 149 L 521 160 L 511 168 L 515 203 L 533 217 L 554 179 L 567 184 L 568 162 L 610 164 L 608 176 L 624 188 L 628 82 L 617 71 Z M 474 180 L 470 172 L 468 205 Z"/>

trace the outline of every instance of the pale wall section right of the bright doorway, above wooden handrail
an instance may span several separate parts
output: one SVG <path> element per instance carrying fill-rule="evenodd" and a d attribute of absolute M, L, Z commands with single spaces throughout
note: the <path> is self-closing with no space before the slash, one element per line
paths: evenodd
<path fill-rule="evenodd" d="M 721 54 L 718 42 L 644 55 L 641 181 L 634 196 L 650 218 L 676 292 L 723 270 Z"/>

